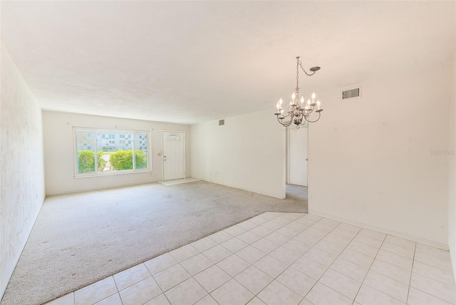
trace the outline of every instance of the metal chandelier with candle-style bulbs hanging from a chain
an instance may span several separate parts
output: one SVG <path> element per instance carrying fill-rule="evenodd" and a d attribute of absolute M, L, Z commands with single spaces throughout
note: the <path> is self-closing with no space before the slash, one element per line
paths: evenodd
<path fill-rule="evenodd" d="M 323 109 L 320 108 L 320 100 L 315 100 L 315 92 L 312 93 L 312 99 L 309 98 L 307 102 L 305 101 L 304 96 L 299 95 L 299 89 L 301 89 L 299 88 L 299 67 L 306 73 L 306 76 L 313 76 L 316 71 L 320 70 L 320 67 L 312 67 L 310 69 L 312 73 L 307 73 L 302 67 L 302 62 L 299 61 L 299 56 L 296 57 L 296 89 L 294 89 L 294 93 L 291 95 L 291 101 L 288 108 L 284 109 L 282 105 L 284 101 L 280 99 L 276 105 L 276 113 L 274 113 L 274 115 L 277 116 L 277 121 L 285 127 L 289 127 L 291 123 L 294 123 L 296 128 L 304 126 L 306 122 L 315 123 L 320 119 L 321 111 L 323 111 Z M 311 113 L 318 113 L 318 118 L 310 120 L 309 116 Z"/>

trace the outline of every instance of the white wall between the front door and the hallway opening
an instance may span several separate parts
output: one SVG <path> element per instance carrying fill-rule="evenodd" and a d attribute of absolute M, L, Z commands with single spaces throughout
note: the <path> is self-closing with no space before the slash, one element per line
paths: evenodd
<path fill-rule="evenodd" d="M 285 128 L 274 109 L 192 125 L 192 177 L 285 197 Z"/>

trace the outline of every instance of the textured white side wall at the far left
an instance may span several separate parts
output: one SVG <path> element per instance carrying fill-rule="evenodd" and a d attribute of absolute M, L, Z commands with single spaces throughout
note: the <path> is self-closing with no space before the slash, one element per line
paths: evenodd
<path fill-rule="evenodd" d="M 0 299 L 44 200 L 41 110 L 1 43 Z"/>

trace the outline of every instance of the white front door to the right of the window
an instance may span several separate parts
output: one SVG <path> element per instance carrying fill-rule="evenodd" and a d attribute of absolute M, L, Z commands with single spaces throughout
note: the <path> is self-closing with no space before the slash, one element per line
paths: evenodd
<path fill-rule="evenodd" d="M 163 132 L 163 180 L 185 178 L 185 133 Z"/>

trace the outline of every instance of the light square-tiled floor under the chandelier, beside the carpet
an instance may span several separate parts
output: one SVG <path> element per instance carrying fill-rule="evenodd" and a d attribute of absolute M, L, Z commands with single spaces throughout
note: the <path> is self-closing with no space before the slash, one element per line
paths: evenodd
<path fill-rule="evenodd" d="M 456 288 L 447 251 L 266 212 L 48 304 L 456 304 Z"/>

